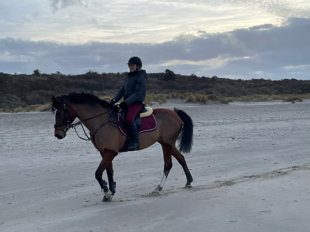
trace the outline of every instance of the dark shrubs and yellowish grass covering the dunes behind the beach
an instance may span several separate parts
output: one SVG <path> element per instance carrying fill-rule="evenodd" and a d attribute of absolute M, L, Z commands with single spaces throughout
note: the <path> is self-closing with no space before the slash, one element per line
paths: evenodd
<path fill-rule="evenodd" d="M 35 69 L 32 75 L 0 72 L 0 112 L 46 111 L 48 96 L 70 92 L 92 92 L 109 100 L 122 85 L 126 73 L 101 73 L 89 70 L 85 74 L 51 74 Z M 165 103 L 167 99 L 181 98 L 184 102 L 217 101 L 302 101 L 310 98 L 310 81 L 297 79 L 228 79 L 175 74 L 166 69 L 149 73 L 145 103 Z"/>

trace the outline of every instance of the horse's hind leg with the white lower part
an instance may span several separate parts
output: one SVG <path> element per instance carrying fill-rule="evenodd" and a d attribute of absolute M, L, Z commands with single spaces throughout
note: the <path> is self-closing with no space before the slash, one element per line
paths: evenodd
<path fill-rule="evenodd" d="M 162 151 L 164 153 L 164 174 L 162 175 L 162 179 L 159 185 L 152 191 L 152 193 L 159 193 L 162 191 L 164 184 L 166 182 L 167 176 L 172 168 L 172 160 L 171 160 L 171 152 L 172 146 L 164 143 L 163 141 L 159 142 L 162 145 Z"/>

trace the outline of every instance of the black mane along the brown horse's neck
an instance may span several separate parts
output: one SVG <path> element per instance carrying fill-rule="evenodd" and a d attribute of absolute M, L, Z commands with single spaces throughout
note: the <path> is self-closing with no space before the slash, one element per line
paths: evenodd
<path fill-rule="evenodd" d="M 63 100 L 69 100 L 70 102 L 74 104 L 100 104 L 105 108 L 108 108 L 109 110 L 114 109 L 113 104 L 109 103 L 108 101 L 102 100 L 99 97 L 95 96 L 92 93 L 86 93 L 86 92 L 72 92 L 67 95 L 61 95 L 57 97 L 60 99 L 60 102 Z M 51 103 L 51 110 L 54 111 L 58 105 L 56 105 L 56 102 Z"/>

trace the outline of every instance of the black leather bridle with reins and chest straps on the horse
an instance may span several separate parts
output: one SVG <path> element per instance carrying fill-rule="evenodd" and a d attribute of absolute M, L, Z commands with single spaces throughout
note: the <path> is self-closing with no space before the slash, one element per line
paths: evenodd
<path fill-rule="evenodd" d="M 108 124 L 109 122 L 112 124 L 113 127 L 119 127 L 119 123 L 113 121 L 113 118 L 112 118 L 112 110 L 107 111 L 107 112 L 102 113 L 102 114 L 99 114 L 99 115 L 96 115 L 96 116 L 91 117 L 91 118 L 87 118 L 87 119 L 82 120 L 82 121 L 79 120 L 78 122 L 72 124 L 72 123 L 69 123 L 69 122 L 70 122 L 70 119 L 72 119 L 72 118 L 71 118 L 70 115 L 69 115 L 67 106 L 66 106 L 66 104 L 64 103 L 64 99 L 62 100 L 62 105 L 58 105 L 58 106 L 56 107 L 56 109 L 57 109 L 58 107 L 60 107 L 60 106 L 63 106 L 63 110 L 64 110 L 64 122 L 58 123 L 58 124 L 54 124 L 54 128 L 57 129 L 57 130 L 59 130 L 59 131 L 64 131 L 64 132 L 66 132 L 67 129 L 69 130 L 70 128 L 74 128 L 75 132 L 76 132 L 77 135 L 78 135 L 78 131 L 76 130 L 75 127 L 78 126 L 78 125 L 81 125 L 81 126 L 82 126 L 82 129 L 83 129 L 83 131 L 84 131 L 84 134 L 85 134 L 86 137 L 87 137 L 87 139 L 85 139 L 85 138 L 82 138 L 82 137 L 80 137 L 80 136 L 78 135 L 78 137 L 79 137 L 80 139 L 82 139 L 82 140 L 89 141 L 89 140 L 93 139 L 93 142 L 95 143 L 95 140 L 94 140 L 95 133 L 96 133 L 97 131 L 99 131 L 99 129 L 100 129 L 101 127 L 103 127 L 104 125 Z M 109 118 L 108 118 L 108 121 L 104 122 L 100 127 L 98 127 L 98 128 L 92 133 L 91 137 L 88 137 L 88 135 L 86 134 L 86 131 L 84 130 L 84 127 L 83 127 L 82 122 L 86 122 L 86 121 L 88 121 L 88 120 L 90 120 L 90 119 L 93 119 L 93 118 L 96 118 L 96 117 L 99 117 L 99 116 L 101 116 L 101 115 L 103 115 L 103 114 L 108 114 L 108 113 L 110 114 L 110 116 L 109 116 Z M 113 125 L 113 124 L 114 124 L 114 125 Z M 66 126 L 66 128 L 64 128 L 64 130 L 60 130 L 59 127 L 61 127 L 61 126 Z"/>

